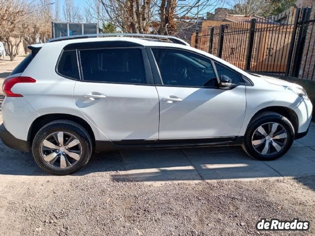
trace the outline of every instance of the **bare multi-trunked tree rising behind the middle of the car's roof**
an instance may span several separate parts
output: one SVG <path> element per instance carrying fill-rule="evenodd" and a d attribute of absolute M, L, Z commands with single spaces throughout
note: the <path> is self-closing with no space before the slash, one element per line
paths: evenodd
<path fill-rule="evenodd" d="M 95 17 L 109 22 L 123 32 L 170 34 L 176 31 L 179 20 L 202 17 L 221 4 L 216 0 L 97 0 L 102 11 L 90 1 Z M 96 16 L 97 15 L 97 16 Z"/>

